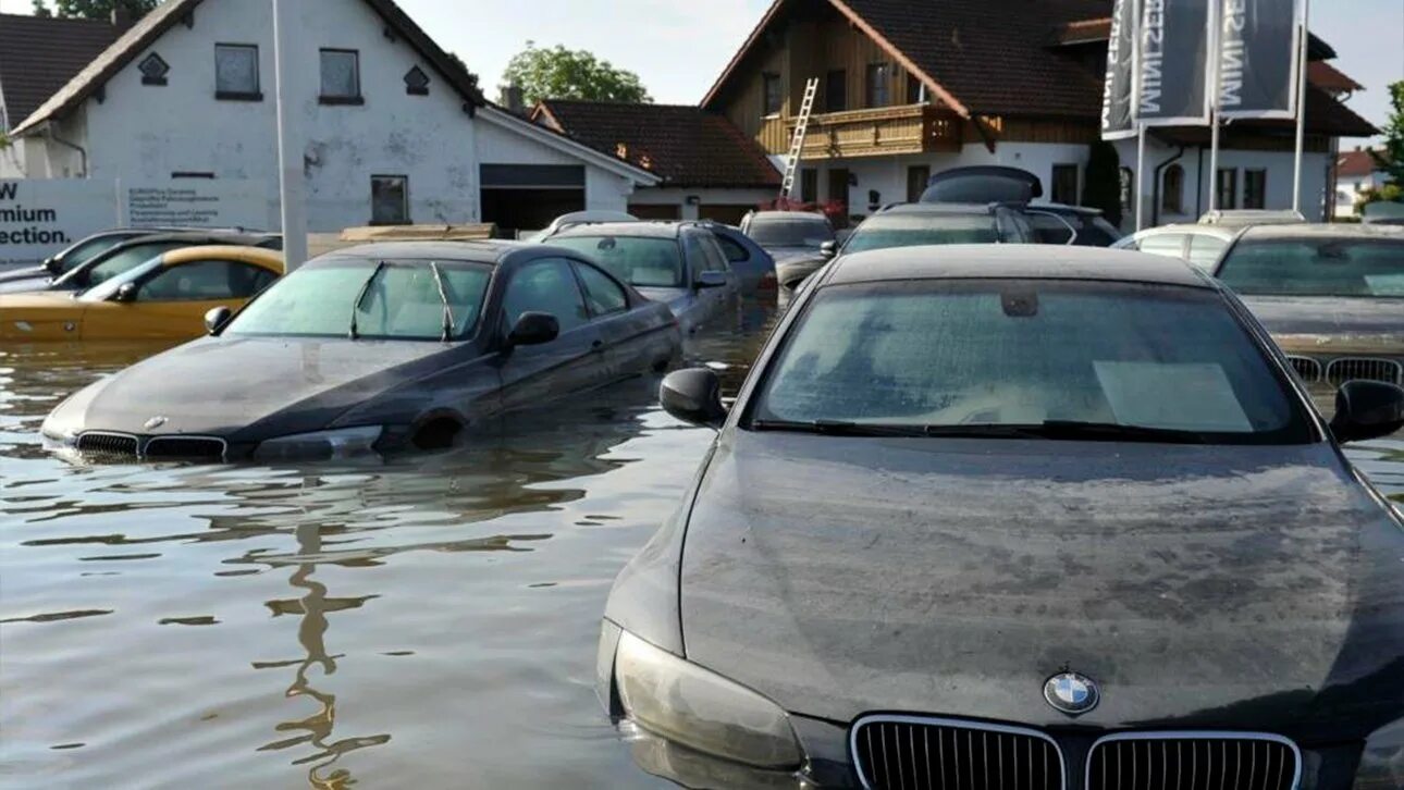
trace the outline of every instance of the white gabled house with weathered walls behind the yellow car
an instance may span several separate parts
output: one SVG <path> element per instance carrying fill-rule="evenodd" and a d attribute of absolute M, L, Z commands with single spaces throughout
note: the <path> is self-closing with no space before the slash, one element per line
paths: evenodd
<path fill-rule="evenodd" d="M 306 140 L 313 232 L 532 229 L 564 210 L 622 210 L 635 188 L 658 182 L 489 104 L 476 77 L 390 0 L 289 4 L 299 29 L 284 91 Z M 241 180 L 274 201 L 272 32 L 268 1 L 167 0 L 13 122 L 17 153 L 0 175 Z"/>

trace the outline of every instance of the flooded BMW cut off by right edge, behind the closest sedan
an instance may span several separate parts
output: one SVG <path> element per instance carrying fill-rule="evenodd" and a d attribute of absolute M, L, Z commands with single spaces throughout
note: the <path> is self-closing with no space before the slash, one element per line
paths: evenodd
<path fill-rule="evenodd" d="M 1404 229 L 1254 227 L 1214 274 L 1320 400 L 1352 379 L 1404 384 Z"/>

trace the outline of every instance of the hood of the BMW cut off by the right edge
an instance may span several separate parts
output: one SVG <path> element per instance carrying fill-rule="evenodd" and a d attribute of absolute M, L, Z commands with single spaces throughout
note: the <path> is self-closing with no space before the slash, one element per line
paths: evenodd
<path fill-rule="evenodd" d="M 1244 296 L 1273 335 L 1393 338 L 1404 344 L 1404 299 Z"/>

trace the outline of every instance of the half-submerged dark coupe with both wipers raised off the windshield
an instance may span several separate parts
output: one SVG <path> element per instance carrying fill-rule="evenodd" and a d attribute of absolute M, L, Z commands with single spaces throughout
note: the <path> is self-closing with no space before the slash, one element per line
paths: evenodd
<path fill-rule="evenodd" d="M 396 243 L 305 264 L 212 335 L 102 379 L 44 422 L 125 457 L 439 448 L 473 422 L 664 369 L 665 304 L 541 246 Z"/>

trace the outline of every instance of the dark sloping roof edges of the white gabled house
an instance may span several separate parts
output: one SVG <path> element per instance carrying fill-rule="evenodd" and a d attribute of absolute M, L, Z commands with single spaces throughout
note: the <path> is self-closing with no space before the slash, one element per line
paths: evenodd
<path fill-rule="evenodd" d="M 119 39 L 111 43 L 100 55 L 93 58 L 90 63 L 83 67 L 67 84 L 62 87 L 58 93 L 46 97 L 44 104 L 34 111 L 24 122 L 15 122 L 14 130 L 17 133 L 24 133 L 34 126 L 55 118 L 72 112 L 76 107 L 83 104 L 90 95 L 98 91 L 102 84 L 112 79 L 122 67 L 136 59 L 147 46 L 156 42 L 161 35 L 171 28 L 171 25 L 180 22 L 187 14 L 195 13 L 195 8 L 204 0 L 166 0 L 156 7 L 154 11 L 146 14 L 142 21 L 136 22 L 131 29 L 128 29 Z M 465 102 L 470 102 L 475 107 L 482 107 L 484 102 L 482 91 L 477 88 L 477 77 L 470 74 L 462 66 L 453 62 L 449 55 L 441 49 L 434 39 L 420 28 L 396 3 L 395 0 L 365 0 L 375 11 L 385 20 L 386 25 L 395 31 L 397 35 L 403 36 L 406 41 L 414 46 L 418 53 L 430 62 L 430 65 L 445 79 L 453 88 L 463 97 Z M 0 74 L 3 77 L 3 74 Z M 18 114 L 13 114 L 18 118 Z"/>

